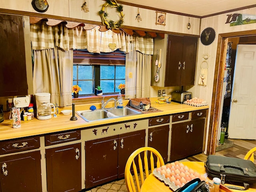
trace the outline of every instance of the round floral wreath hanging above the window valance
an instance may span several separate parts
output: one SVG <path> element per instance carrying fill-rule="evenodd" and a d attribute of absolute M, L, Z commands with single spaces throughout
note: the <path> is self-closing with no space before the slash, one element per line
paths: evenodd
<path fill-rule="evenodd" d="M 123 6 L 118 4 L 116 0 L 106 0 L 106 3 L 102 4 L 102 9 L 99 11 L 99 15 L 101 16 L 102 23 L 105 24 L 109 29 L 119 29 L 124 23 L 124 14 L 123 14 Z M 114 22 L 113 20 L 107 19 L 108 13 L 105 11 L 107 7 L 116 8 L 119 20 Z"/>

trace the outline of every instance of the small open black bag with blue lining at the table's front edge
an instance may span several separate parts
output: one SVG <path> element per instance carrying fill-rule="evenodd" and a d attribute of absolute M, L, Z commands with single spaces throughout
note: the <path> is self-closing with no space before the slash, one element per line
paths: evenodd
<path fill-rule="evenodd" d="M 209 192 L 209 187 L 205 181 L 195 178 L 187 182 L 183 187 L 178 188 L 175 192 Z"/>

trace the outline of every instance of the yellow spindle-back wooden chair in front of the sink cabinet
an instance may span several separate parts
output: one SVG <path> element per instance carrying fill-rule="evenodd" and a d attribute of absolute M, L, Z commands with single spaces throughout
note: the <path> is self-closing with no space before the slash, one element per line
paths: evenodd
<path fill-rule="evenodd" d="M 150 160 L 151 172 L 153 172 L 153 170 L 154 170 L 153 154 L 156 155 L 156 166 L 160 167 L 160 166 L 164 165 L 164 160 L 163 160 L 161 154 L 156 149 L 154 149 L 152 147 L 142 147 L 142 148 L 135 150 L 128 158 L 128 160 L 126 162 L 125 170 L 124 170 L 125 184 L 126 184 L 128 192 L 136 192 L 134 179 L 132 177 L 132 173 L 130 172 L 131 166 L 132 166 L 132 169 L 134 170 L 134 177 L 135 177 L 135 181 L 136 181 L 137 190 L 138 190 L 138 192 L 140 192 L 140 181 L 139 181 L 139 176 L 138 176 L 137 166 L 136 166 L 137 162 L 135 162 L 135 160 L 134 160 L 137 156 L 138 156 L 138 164 L 137 165 L 139 166 L 139 174 L 140 174 L 141 184 L 143 184 L 143 182 L 144 182 L 143 169 L 145 169 L 146 178 L 148 177 L 148 175 L 149 175 L 148 157 L 147 157 L 148 152 L 150 152 L 149 160 Z M 142 154 L 140 154 L 140 153 L 142 153 Z M 144 155 L 144 166 L 142 165 L 141 155 Z"/>

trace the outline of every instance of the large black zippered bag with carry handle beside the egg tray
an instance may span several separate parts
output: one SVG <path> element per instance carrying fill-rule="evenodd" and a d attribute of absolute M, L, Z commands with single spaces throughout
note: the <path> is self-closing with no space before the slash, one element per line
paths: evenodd
<path fill-rule="evenodd" d="M 209 155 L 204 166 L 208 175 L 220 178 L 223 185 L 227 180 L 244 183 L 244 189 L 226 186 L 228 188 L 246 190 L 249 183 L 256 183 L 256 166 L 250 160 Z"/>

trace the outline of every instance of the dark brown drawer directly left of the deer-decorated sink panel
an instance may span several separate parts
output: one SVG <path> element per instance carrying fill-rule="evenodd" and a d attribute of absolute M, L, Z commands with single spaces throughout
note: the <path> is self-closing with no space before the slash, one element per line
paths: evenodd
<path fill-rule="evenodd" d="M 55 145 L 59 143 L 65 143 L 70 141 L 76 141 L 81 139 L 81 131 L 74 130 L 68 132 L 48 134 L 44 136 L 45 146 Z"/>

